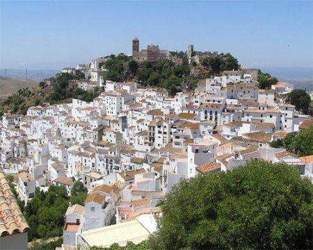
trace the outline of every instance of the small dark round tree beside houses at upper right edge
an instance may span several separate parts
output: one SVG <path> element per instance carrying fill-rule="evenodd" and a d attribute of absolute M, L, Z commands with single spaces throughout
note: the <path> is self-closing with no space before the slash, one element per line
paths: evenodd
<path fill-rule="evenodd" d="M 296 110 L 307 114 L 311 102 L 310 94 L 307 94 L 305 90 L 292 90 L 287 94 L 287 102 L 296 106 Z"/>

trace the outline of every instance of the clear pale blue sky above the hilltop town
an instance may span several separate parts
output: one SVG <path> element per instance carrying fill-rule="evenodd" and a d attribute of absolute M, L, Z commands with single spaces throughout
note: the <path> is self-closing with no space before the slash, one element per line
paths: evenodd
<path fill-rule="evenodd" d="M 140 47 L 313 67 L 313 1 L 0 1 L 0 67 L 56 69 Z"/>

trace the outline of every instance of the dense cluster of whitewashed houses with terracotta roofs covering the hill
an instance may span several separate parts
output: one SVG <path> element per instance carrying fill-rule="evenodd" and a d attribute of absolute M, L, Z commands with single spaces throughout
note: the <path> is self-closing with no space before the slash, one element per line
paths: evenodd
<path fill-rule="evenodd" d="M 159 215 L 158 203 L 180 179 L 227 172 L 251 158 L 298 165 L 313 177 L 313 156 L 270 147 L 312 124 L 285 103 L 283 83 L 259 90 L 250 74 L 230 71 L 170 97 L 135 82 L 100 83 L 96 74 L 95 80 L 104 92 L 90 103 L 43 103 L 1 121 L 0 165 L 17 174 L 26 203 L 36 187 L 62 185 L 69 195 L 74 181 L 88 188 L 85 206 L 67 209 L 64 246 L 88 248 L 93 233 L 123 231 L 125 221 L 153 229 L 153 218 L 141 216 Z"/>

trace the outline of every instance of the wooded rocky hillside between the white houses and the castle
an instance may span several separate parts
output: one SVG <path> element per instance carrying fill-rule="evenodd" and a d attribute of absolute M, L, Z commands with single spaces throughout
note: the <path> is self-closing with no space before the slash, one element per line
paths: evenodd
<path fill-rule="evenodd" d="M 239 68 L 238 60 L 230 53 L 205 58 L 207 60 L 202 60 L 200 63 L 188 63 L 187 55 L 183 51 L 170 53 L 172 60 L 158 60 L 154 63 L 149 61 L 137 63 L 131 56 L 120 53 L 118 56 L 107 56 L 106 63 L 100 63 L 99 68 L 106 69 L 102 72 L 104 81 L 136 81 L 143 86 L 166 88 L 170 95 L 175 95 L 182 90 L 192 90 L 202 78 L 220 75 L 223 70 Z M 6 99 L 0 101 L 0 115 L 8 110 L 12 113 L 26 114 L 29 107 L 44 102 L 64 103 L 71 101 L 72 98 L 93 101 L 93 98 L 101 92 L 99 88 L 87 92 L 77 86 L 69 85 L 70 80 L 84 77 L 83 74 L 74 76 L 61 73 L 46 79 L 45 82 L 40 82 L 38 88 L 21 85 L 22 88 L 19 90 L 17 88 L 11 92 L 13 94 L 7 95 Z"/>

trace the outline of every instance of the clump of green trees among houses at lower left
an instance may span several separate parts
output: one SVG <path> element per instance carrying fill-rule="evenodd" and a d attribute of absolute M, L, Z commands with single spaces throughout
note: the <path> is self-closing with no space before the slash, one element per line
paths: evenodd
<path fill-rule="evenodd" d="M 61 236 L 63 234 L 64 215 L 69 202 L 83 205 L 87 197 L 87 192 L 84 191 L 78 192 L 74 197 L 68 197 L 64 187 L 51 185 L 47 192 L 42 192 L 36 188 L 35 197 L 29 201 L 25 208 L 25 218 L 31 228 L 29 240 Z"/>

